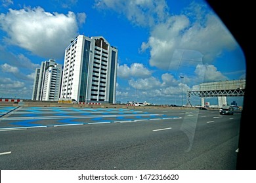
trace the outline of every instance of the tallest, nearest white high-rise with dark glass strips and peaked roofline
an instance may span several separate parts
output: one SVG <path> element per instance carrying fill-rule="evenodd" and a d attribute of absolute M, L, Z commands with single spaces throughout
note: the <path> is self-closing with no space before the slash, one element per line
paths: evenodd
<path fill-rule="evenodd" d="M 77 36 L 65 51 L 60 97 L 116 103 L 117 54 L 104 37 Z"/>

